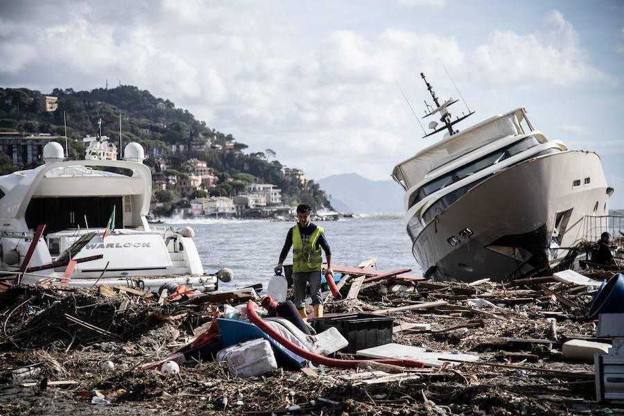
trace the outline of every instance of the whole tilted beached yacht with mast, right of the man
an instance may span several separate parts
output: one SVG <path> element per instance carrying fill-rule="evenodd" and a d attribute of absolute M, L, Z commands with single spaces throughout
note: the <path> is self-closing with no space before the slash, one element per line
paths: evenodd
<path fill-rule="evenodd" d="M 499 281 L 569 268 L 585 239 L 587 216 L 606 216 L 613 189 L 600 157 L 549 141 L 523 107 L 458 131 L 433 97 L 444 138 L 399 163 L 406 228 L 425 277 Z M 596 229 L 591 232 L 596 234 Z M 598 230 L 599 231 L 599 230 Z"/>

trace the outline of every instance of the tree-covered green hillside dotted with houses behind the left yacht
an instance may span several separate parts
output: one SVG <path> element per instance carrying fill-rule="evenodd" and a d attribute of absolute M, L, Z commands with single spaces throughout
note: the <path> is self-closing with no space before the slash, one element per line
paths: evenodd
<path fill-rule="evenodd" d="M 44 111 L 44 95 L 58 97 L 58 108 Z M 70 140 L 70 159 L 81 159 L 85 145 L 83 137 L 96 135 L 98 120 L 102 120 L 102 134 L 112 140 L 119 139 L 119 114 L 122 121 L 123 143 L 137 141 L 146 155 L 161 157 L 168 171 L 185 175 L 189 173 L 186 162 L 191 158 L 207 162 L 219 180 L 205 193 L 214 196 L 234 196 L 249 182 L 275 184 L 282 191 L 284 200 L 295 204 L 306 202 L 315 209 L 329 207 L 324 191 L 313 181 L 305 184 L 284 176 L 282 165 L 275 159 L 275 152 L 247 153 L 247 145 L 232 135 L 209 128 L 187 110 L 175 107 L 164 98 L 156 98 L 146 90 L 131 85 L 112 89 L 94 89 L 90 92 L 74 92 L 73 89 L 53 89 L 42 94 L 26 88 L 0 88 L 0 132 L 29 132 L 64 135 L 63 113 L 67 121 Z M 203 146 L 207 143 L 213 146 Z M 220 148 L 230 144 L 227 151 Z M 172 145 L 183 145 L 183 151 L 172 150 Z M 0 155 L 0 169 L 6 173 L 7 155 Z M 153 166 L 153 159 L 146 164 Z M 33 166 L 21 166 L 21 168 Z M 184 205 L 184 200 L 202 196 L 173 195 L 173 204 Z M 168 196 L 167 199 L 170 199 Z"/>

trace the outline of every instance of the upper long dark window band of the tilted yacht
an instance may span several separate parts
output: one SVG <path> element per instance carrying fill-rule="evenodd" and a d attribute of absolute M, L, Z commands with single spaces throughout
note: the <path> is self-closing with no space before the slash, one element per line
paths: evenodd
<path fill-rule="evenodd" d="M 422 200 L 431 193 L 434 193 L 435 191 L 440 191 L 440 189 L 444 189 L 444 187 L 447 187 L 454 182 L 458 182 L 459 180 L 473 175 L 478 171 L 482 171 L 489 166 L 508 159 L 508 157 L 512 157 L 514 155 L 517 155 L 518 153 L 523 152 L 524 150 L 532 148 L 533 146 L 537 146 L 539 143 L 540 141 L 535 136 L 528 136 L 520 141 L 510 144 L 505 148 L 498 149 L 493 153 L 490 153 L 489 155 L 480 157 L 479 159 L 476 159 L 465 166 L 462 166 L 454 171 L 442 175 L 441 177 L 437 177 L 433 181 L 425 184 L 419 189 L 418 195 L 416 199 L 410 204 L 410 207 L 412 207 L 419 200 Z"/>

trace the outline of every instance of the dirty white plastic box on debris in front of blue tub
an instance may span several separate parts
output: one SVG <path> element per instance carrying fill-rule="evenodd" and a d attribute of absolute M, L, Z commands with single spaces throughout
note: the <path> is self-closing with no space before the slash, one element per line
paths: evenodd
<path fill-rule="evenodd" d="M 225 363 L 232 374 L 243 379 L 277 370 L 273 349 L 268 340 L 263 338 L 222 349 L 217 354 L 217 360 Z"/>

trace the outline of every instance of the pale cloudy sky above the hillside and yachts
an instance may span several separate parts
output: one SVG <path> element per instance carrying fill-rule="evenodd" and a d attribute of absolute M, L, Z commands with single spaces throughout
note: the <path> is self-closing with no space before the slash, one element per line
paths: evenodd
<path fill-rule="evenodd" d="M 136 85 L 320 179 L 386 180 L 458 94 L 603 159 L 624 208 L 621 1 L 0 1 L 0 85 Z M 451 107 L 466 111 L 463 103 Z M 427 119 L 428 121 L 428 119 Z"/>

